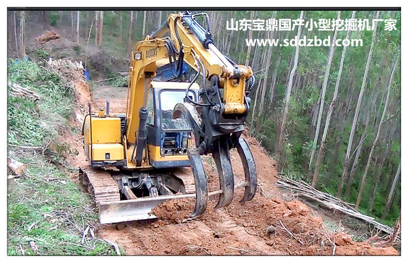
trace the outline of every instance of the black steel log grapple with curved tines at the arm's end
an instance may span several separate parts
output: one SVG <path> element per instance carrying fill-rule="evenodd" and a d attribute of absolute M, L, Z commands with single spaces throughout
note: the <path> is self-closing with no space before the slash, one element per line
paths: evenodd
<path fill-rule="evenodd" d="M 216 119 L 211 119 L 210 116 L 211 109 L 197 107 L 190 102 L 176 104 L 173 111 L 173 118 L 184 118 L 190 123 L 198 146 L 188 152 L 196 184 L 196 206 L 191 214 L 192 217 L 204 213 L 209 196 L 218 195 L 215 206 L 215 209 L 218 209 L 231 204 L 236 188 L 245 188 L 241 203 L 251 200 L 256 192 L 257 175 L 254 158 L 245 139 L 240 138 L 243 124 L 217 125 L 214 124 Z M 234 185 L 230 158 L 232 148 L 237 148 L 245 174 L 245 182 L 239 186 Z M 219 190 L 210 193 L 208 193 L 207 176 L 200 158 L 200 155 L 208 153 L 212 154 L 217 166 L 220 184 Z"/>

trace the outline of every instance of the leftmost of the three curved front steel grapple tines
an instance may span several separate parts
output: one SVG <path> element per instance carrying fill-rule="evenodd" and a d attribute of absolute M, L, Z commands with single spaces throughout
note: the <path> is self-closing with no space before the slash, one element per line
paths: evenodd
<path fill-rule="evenodd" d="M 196 185 L 196 207 L 194 208 L 191 217 L 195 217 L 204 213 L 207 208 L 208 187 L 207 177 L 205 175 L 204 166 L 201 162 L 200 155 L 197 150 L 187 150 L 188 159 L 190 160 L 191 169 L 193 170 L 194 183 Z"/>

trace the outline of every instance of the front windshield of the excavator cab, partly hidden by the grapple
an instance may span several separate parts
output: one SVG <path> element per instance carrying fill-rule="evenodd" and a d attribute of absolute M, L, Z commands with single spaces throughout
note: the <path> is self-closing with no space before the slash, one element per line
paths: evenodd
<path fill-rule="evenodd" d="M 185 91 L 162 91 L 160 93 L 160 112 L 162 118 L 162 130 L 191 130 L 190 124 L 184 115 L 178 119 L 173 119 L 173 109 L 177 103 L 184 102 Z M 189 97 L 195 99 L 194 92 L 189 92 Z"/>

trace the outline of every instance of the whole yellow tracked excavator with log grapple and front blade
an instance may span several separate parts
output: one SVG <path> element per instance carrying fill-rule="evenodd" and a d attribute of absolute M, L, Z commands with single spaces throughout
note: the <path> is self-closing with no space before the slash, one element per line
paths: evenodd
<path fill-rule="evenodd" d="M 202 26 L 204 25 L 204 26 Z M 207 13 L 170 14 L 131 53 L 126 113 L 99 108 L 85 116 L 82 134 L 89 163 L 79 174 L 94 196 L 102 224 L 154 219 L 171 199 L 195 198 L 190 214 L 240 202 L 257 189 L 254 158 L 240 135 L 255 78 L 249 66 L 224 56 L 212 40 Z M 235 184 L 230 150 L 236 148 L 245 181 Z M 211 154 L 219 189 L 209 192 L 201 156 Z M 185 172 L 180 167 L 191 167 Z"/>

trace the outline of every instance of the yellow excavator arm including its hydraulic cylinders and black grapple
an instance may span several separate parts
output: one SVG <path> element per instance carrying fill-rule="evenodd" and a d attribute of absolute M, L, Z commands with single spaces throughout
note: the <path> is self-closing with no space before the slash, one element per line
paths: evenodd
<path fill-rule="evenodd" d="M 205 29 L 197 21 L 199 16 L 205 19 Z M 257 185 L 255 162 L 248 144 L 240 135 L 249 111 L 250 101 L 246 94 L 254 85 L 253 72 L 249 66 L 237 65 L 215 47 L 206 13 L 170 14 L 158 30 L 138 42 L 132 51 L 126 133 L 128 144 L 134 147 L 128 153 L 130 160 L 135 166 L 146 165 L 143 152 L 147 89 L 155 76 L 156 62 L 163 58 L 169 59 L 175 77 L 180 76 L 183 63 L 196 71 L 186 90 L 184 103 L 176 104 L 173 111 L 173 118 L 187 118 L 196 140 L 197 147 L 187 152 L 196 187 L 196 207 L 191 216 L 204 212 L 209 196 L 200 155 L 211 153 L 217 166 L 220 189 L 216 193 L 219 199 L 215 208 L 228 206 L 234 196 L 229 153 L 232 148 L 237 148 L 245 173 L 245 182 L 241 184 L 245 193 L 241 202 L 252 199 Z M 199 77 L 201 100 L 193 101 L 187 94 Z"/>

